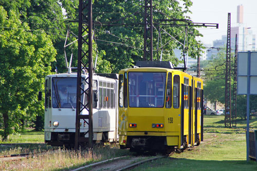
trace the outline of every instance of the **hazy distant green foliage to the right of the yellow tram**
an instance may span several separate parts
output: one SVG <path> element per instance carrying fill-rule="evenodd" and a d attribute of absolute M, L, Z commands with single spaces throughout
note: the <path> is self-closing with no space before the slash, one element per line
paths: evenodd
<path fill-rule="evenodd" d="M 205 85 L 204 96 L 208 101 L 215 101 L 225 104 L 225 71 L 226 71 L 226 51 L 225 47 L 219 50 L 216 56 L 209 61 L 205 69 Z M 234 54 L 231 53 L 231 99 L 233 95 L 233 70 L 234 70 Z M 209 69 L 209 70 L 208 70 Z M 233 99 L 232 99 L 233 100 Z M 232 102 L 232 101 L 231 101 Z M 256 112 L 257 106 L 256 96 L 250 96 L 250 112 Z M 231 106 L 232 107 L 232 106 Z M 236 116 L 241 119 L 246 119 L 246 96 L 237 95 L 236 100 Z"/>

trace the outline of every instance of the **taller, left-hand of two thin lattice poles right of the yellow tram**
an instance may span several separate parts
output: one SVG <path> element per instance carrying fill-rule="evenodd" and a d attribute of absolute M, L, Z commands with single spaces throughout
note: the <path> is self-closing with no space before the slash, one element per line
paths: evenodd
<path fill-rule="evenodd" d="M 228 32 L 227 32 L 227 50 L 226 50 L 226 75 L 225 75 L 225 127 L 231 128 L 231 47 L 230 47 L 230 13 L 228 13 Z"/>

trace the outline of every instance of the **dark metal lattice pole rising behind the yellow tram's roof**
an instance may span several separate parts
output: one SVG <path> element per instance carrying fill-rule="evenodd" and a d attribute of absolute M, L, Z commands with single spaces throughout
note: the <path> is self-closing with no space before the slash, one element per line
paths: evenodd
<path fill-rule="evenodd" d="M 149 55 L 153 61 L 153 4 L 152 0 L 144 0 L 144 61 Z"/>

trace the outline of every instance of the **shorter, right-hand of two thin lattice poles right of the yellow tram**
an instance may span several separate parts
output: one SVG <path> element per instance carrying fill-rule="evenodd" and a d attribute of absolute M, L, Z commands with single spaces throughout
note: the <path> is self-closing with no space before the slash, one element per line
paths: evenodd
<path fill-rule="evenodd" d="M 236 126 L 236 94 L 237 94 L 237 34 L 235 34 L 235 57 L 233 74 L 233 101 L 232 101 L 232 127 Z"/>

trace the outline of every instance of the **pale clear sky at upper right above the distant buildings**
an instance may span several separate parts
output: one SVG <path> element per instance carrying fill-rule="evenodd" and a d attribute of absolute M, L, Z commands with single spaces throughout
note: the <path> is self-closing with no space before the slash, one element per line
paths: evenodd
<path fill-rule="evenodd" d="M 227 35 L 228 13 L 231 13 L 231 27 L 236 26 L 237 6 L 244 6 L 243 23 L 257 35 L 257 0 L 191 0 L 193 5 L 188 14 L 195 23 L 218 23 L 219 28 L 197 28 L 204 37 L 198 37 L 204 46 L 221 40 Z"/>

